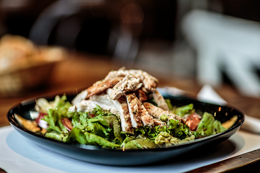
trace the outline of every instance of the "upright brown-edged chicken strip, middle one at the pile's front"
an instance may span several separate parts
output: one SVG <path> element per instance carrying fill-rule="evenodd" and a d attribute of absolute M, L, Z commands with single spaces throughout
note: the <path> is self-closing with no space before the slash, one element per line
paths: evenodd
<path fill-rule="evenodd" d="M 140 126 L 143 126 L 143 123 L 141 122 L 141 118 L 139 115 L 137 99 L 138 98 L 136 97 L 136 95 L 132 92 L 126 94 L 126 100 L 132 121 L 132 126 L 134 128 L 139 128 Z"/>

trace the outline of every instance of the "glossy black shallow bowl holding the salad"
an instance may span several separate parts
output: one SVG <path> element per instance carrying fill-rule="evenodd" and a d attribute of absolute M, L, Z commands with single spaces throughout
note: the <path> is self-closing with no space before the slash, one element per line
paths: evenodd
<path fill-rule="evenodd" d="M 54 100 L 54 97 L 55 96 L 50 97 L 48 100 Z M 75 95 L 67 95 L 68 101 L 72 101 L 74 97 Z M 30 119 L 29 112 L 34 109 L 35 100 L 37 98 L 32 98 L 15 105 L 7 113 L 7 118 L 16 131 L 45 149 L 77 160 L 107 165 L 141 165 L 166 160 L 169 158 L 175 159 L 179 156 L 187 154 L 190 151 L 199 149 L 200 147 L 217 145 L 220 142 L 223 142 L 235 134 L 244 122 L 244 114 L 233 107 L 208 104 L 185 97 L 173 97 L 169 95 L 164 97 L 170 98 L 172 104 L 176 106 L 183 106 L 193 103 L 196 110 L 209 112 L 215 115 L 215 118 L 221 122 L 225 122 L 234 115 L 237 115 L 238 119 L 230 129 L 216 135 L 195 139 L 192 142 L 161 149 L 121 151 L 103 149 L 102 147 L 93 145 L 64 143 L 46 138 L 21 127 L 15 119 L 14 114 Z"/>

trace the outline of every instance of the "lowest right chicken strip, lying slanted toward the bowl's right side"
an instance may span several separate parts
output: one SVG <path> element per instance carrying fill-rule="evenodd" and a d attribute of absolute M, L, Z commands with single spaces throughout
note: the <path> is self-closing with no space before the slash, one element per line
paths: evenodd
<path fill-rule="evenodd" d="M 148 111 L 148 113 L 150 115 L 152 115 L 153 117 L 155 118 L 158 118 L 160 119 L 160 117 L 162 115 L 168 115 L 168 119 L 175 119 L 175 120 L 180 120 L 182 122 L 182 118 L 181 117 L 178 117 L 177 115 L 169 112 L 169 111 L 166 111 L 166 110 L 163 110 L 157 106 L 154 106 L 153 104 L 151 103 L 148 103 L 148 102 L 145 102 L 143 103 L 144 107 L 146 108 L 146 110 Z"/>

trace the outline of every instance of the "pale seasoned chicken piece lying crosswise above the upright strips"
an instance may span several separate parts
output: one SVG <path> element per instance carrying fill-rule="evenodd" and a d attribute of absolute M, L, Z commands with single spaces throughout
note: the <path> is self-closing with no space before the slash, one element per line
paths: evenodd
<path fill-rule="evenodd" d="M 140 83 L 140 79 L 137 79 L 133 76 L 126 76 L 113 87 L 109 94 L 110 98 L 112 100 L 116 100 L 126 92 L 137 90 L 141 87 L 141 85 L 142 84 Z"/>

